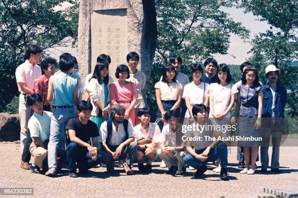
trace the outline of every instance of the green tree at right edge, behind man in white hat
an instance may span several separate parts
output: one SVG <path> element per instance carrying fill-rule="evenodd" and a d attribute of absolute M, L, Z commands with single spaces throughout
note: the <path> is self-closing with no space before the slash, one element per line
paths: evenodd
<path fill-rule="evenodd" d="M 245 12 L 252 12 L 267 21 L 271 27 L 259 33 L 251 41 L 252 57 L 249 60 L 261 71 L 263 82 L 264 69 L 274 64 L 281 70 L 279 82 L 291 89 L 288 93 L 286 115 L 298 115 L 298 67 L 291 64 L 298 59 L 298 1 L 297 0 L 242 0 L 240 6 Z"/>

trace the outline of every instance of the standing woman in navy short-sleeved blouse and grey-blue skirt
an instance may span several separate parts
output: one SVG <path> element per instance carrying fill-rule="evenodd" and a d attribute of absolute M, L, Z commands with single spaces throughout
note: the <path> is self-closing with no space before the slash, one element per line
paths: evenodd
<path fill-rule="evenodd" d="M 263 91 L 259 82 L 258 70 L 248 66 L 243 72 L 242 83 L 237 86 L 236 116 L 238 117 L 239 136 L 260 137 L 258 130 L 261 128 L 261 113 L 263 106 Z M 258 157 L 259 141 L 240 141 L 243 147 L 245 168 L 241 174 L 252 175 L 255 173 L 255 162 Z M 250 151 L 251 150 L 251 151 Z M 251 152 L 251 166 L 250 162 Z"/>

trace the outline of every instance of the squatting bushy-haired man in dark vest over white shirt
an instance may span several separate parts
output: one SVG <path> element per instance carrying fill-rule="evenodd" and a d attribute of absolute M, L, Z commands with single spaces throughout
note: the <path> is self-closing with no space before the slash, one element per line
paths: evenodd
<path fill-rule="evenodd" d="M 124 119 L 125 108 L 122 105 L 112 105 L 110 109 L 111 119 L 103 122 L 100 126 L 99 142 L 101 143 L 102 159 L 107 165 L 107 171 L 114 170 L 113 161 L 125 160 L 123 163 L 127 175 L 132 175 L 131 165 L 133 164 L 137 144 L 134 142 L 135 134 L 132 124 Z"/>

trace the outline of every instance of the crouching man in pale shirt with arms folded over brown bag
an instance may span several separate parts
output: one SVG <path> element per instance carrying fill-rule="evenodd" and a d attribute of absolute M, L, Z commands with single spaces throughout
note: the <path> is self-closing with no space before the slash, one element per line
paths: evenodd
<path fill-rule="evenodd" d="M 149 122 L 150 110 L 148 108 L 140 109 L 137 115 L 141 123 L 133 128 L 135 142 L 138 143 L 136 161 L 139 171 L 151 172 L 151 163 L 157 158 L 156 148 L 159 144 L 160 129 L 158 125 Z M 147 163 L 146 166 L 143 163 Z"/>

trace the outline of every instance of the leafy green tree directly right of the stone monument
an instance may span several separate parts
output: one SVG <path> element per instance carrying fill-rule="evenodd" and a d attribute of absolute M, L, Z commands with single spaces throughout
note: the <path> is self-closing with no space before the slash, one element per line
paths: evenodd
<path fill-rule="evenodd" d="M 249 31 L 222 11 L 232 6 L 234 0 L 155 1 L 158 39 L 147 93 L 152 115 L 157 110 L 154 84 L 170 55 L 179 54 L 184 61 L 181 70 L 189 74 L 190 59 L 201 63 L 212 54 L 227 54 L 231 33 L 248 37 Z"/>

